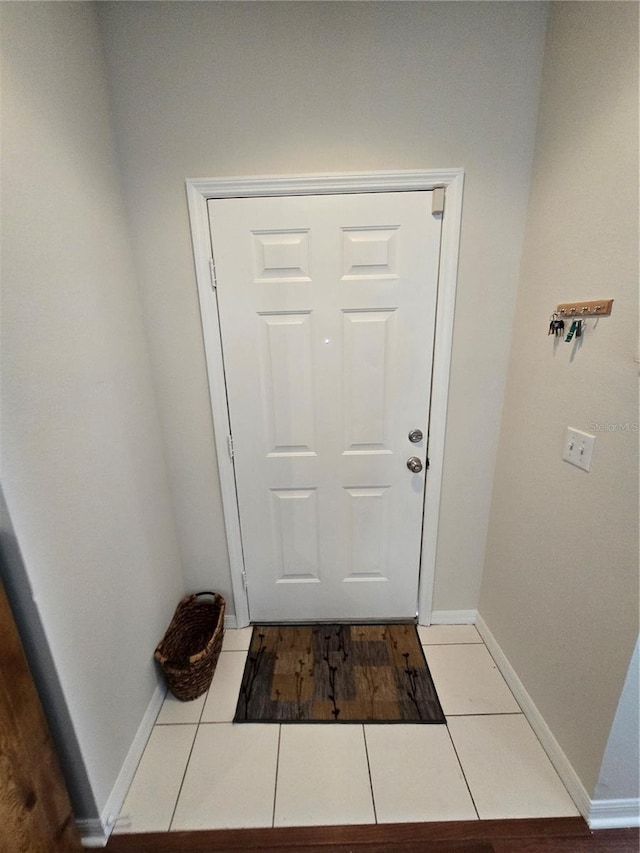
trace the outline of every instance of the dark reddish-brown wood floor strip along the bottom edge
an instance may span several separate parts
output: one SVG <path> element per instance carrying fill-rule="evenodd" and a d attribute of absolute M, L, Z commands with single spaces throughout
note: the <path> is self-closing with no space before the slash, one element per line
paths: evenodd
<path fill-rule="evenodd" d="M 249 807 L 249 806 L 248 806 Z M 227 829 L 113 835 L 107 853 L 638 853 L 640 830 L 582 818 Z"/>

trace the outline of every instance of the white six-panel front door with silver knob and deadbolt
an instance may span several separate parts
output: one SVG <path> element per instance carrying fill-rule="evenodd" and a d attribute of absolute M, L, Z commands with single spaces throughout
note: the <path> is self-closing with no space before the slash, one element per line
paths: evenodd
<path fill-rule="evenodd" d="M 253 622 L 416 614 L 431 195 L 208 202 Z"/>

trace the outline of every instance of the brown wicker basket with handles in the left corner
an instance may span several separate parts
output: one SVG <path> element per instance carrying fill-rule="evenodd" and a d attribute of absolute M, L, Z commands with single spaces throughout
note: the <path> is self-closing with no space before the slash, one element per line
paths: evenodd
<path fill-rule="evenodd" d="M 213 600 L 201 600 L 204 595 Z M 211 684 L 222 648 L 225 607 L 218 593 L 186 595 L 158 643 L 154 657 L 169 689 L 182 702 L 201 696 Z"/>

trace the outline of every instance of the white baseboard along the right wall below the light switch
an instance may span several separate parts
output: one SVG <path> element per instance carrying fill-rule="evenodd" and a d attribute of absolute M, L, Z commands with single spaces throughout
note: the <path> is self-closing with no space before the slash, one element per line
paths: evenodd
<path fill-rule="evenodd" d="M 476 620 L 476 628 L 484 640 L 484 643 L 489 650 L 491 657 L 494 659 L 496 666 L 502 673 L 504 680 L 509 685 L 516 702 L 522 708 L 522 712 L 529 721 L 529 725 L 536 733 L 542 748 L 549 756 L 549 760 L 555 767 L 556 773 L 562 779 L 565 788 L 576 804 L 580 814 L 582 814 L 585 820 L 587 820 L 589 810 L 591 808 L 591 800 L 587 794 L 586 788 L 580 781 L 578 774 L 571 766 L 569 759 L 553 736 L 553 733 L 545 722 L 544 717 L 540 711 L 538 711 L 533 699 L 527 693 L 523 683 L 518 678 L 516 671 L 507 660 L 506 655 L 498 645 L 497 640 L 487 627 L 486 622 L 480 614 L 478 614 L 478 618 Z"/>

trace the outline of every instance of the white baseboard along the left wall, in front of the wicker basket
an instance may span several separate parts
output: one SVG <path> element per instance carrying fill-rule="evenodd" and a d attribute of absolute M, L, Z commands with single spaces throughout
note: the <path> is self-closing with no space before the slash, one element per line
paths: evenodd
<path fill-rule="evenodd" d="M 109 840 L 109 835 L 113 830 L 117 817 L 127 796 L 127 791 L 133 780 L 135 772 L 142 758 L 142 753 L 147 745 L 149 736 L 155 724 L 156 718 L 164 702 L 167 688 L 164 684 L 158 684 L 154 690 L 151 701 L 147 706 L 142 721 L 138 726 L 129 752 L 124 760 L 124 763 L 118 773 L 109 799 L 102 810 L 100 820 L 79 820 L 77 821 L 82 845 L 84 847 L 104 847 Z"/>

